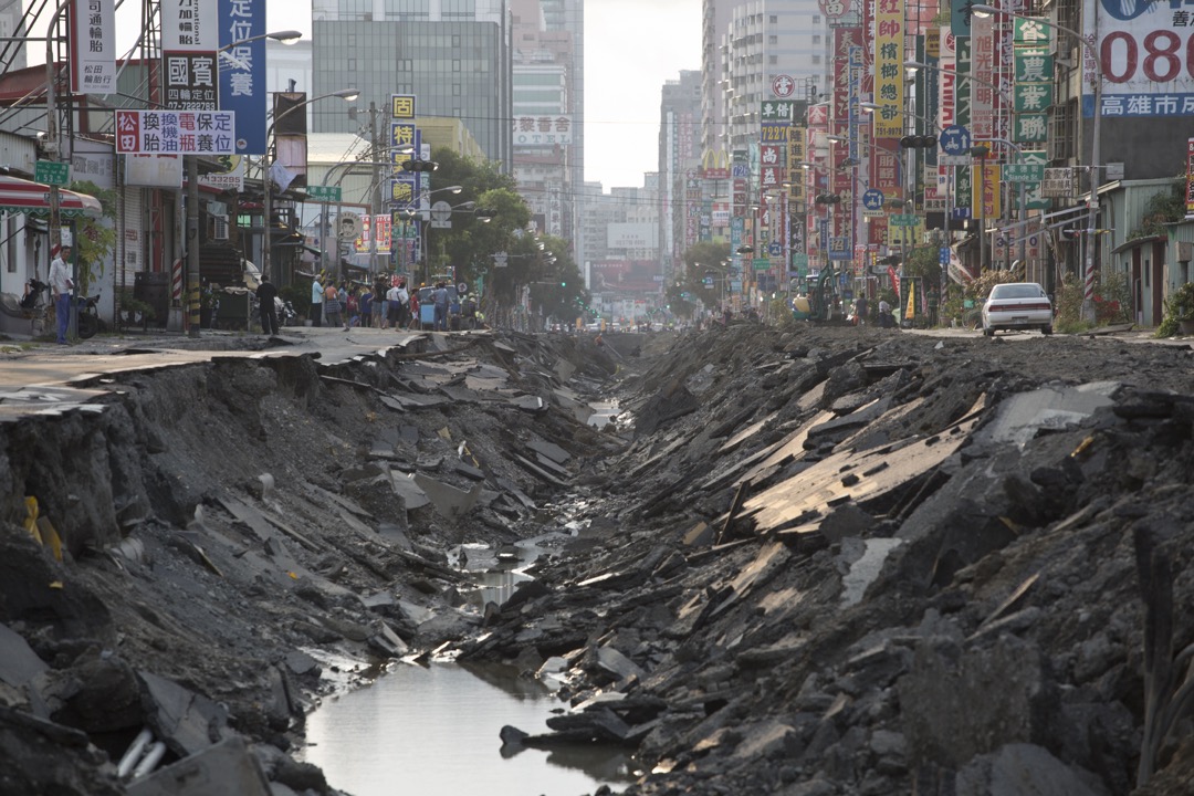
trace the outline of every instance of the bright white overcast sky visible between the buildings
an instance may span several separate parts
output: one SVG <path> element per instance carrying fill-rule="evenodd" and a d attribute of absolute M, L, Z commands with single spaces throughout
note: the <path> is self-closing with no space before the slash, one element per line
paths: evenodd
<path fill-rule="evenodd" d="M 267 30 L 310 36 L 310 4 L 267 0 Z M 659 167 L 666 80 L 701 68 L 701 0 L 586 0 L 585 179 L 641 186 Z"/>

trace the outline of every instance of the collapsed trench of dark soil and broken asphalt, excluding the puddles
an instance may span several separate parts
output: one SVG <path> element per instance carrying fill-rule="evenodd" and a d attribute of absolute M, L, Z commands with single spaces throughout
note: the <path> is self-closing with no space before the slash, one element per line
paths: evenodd
<path fill-rule="evenodd" d="M 224 357 L 5 424 L 0 794 L 123 794 L 144 727 L 330 794 L 303 715 L 432 653 L 553 671 L 580 708 L 523 742 L 633 746 L 632 794 L 1188 792 L 1188 346 L 605 340 Z M 553 531 L 468 606 L 461 543 Z"/>

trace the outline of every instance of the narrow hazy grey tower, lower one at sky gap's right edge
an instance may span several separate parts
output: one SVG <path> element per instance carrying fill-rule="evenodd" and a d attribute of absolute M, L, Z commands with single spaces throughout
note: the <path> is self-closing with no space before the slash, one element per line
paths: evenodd
<path fill-rule="evenodd" d="M 701 166 L 702 73 L 684 70 L 664 84 L 659 110 L 659 258 L 669 277 L 700 235 L 694 202 Z"/>

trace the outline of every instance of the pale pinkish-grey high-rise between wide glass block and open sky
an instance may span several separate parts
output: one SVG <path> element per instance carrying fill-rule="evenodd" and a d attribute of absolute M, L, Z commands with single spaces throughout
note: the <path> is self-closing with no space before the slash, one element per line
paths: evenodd
<path fill-rule="evenodd" d="M 584 2 L 511 0 L 515 179 L 537 229 L 576 237 L 584 180 Z"/>

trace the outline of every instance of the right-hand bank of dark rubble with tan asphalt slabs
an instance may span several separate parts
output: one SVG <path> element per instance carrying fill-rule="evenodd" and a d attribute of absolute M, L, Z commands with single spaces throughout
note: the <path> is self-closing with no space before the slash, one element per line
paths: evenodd
<path fill-rule="evenodd" d="M 462 654 L 542 659 L 573 708 L 510 739 L 632 746 L 633 794 L 1187 792 L 1189 362 L 681 340 L 628 383 L 634 442 L 591 462 L 584 555 Z"/>

